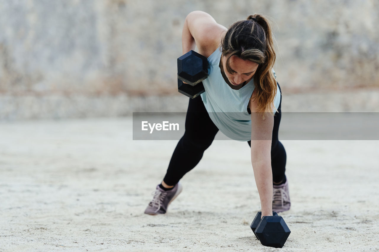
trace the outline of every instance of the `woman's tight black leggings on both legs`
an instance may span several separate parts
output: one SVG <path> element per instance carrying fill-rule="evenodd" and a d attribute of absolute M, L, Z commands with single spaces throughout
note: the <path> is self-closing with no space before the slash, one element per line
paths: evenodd
<path fill-rule="evenodd" d="M 287 160 L 285 149 L 278 140 L 280 118 L 282 117 L 281 107 L 282 97 L 280 96 L 279 108 L 274 116 L 273 138 L 271 142 L 271 167 L 274 182 L 281 182 L 285 179 L 284 173 Z M 172 153 L 171 161 L 163 181 L 169 186 L 177 184 L 187 172 L 199 163 L 204 151 L 211 145 L 217 132 L 218 128 L 210 119 L 201 97 L 189 99 L 185 133 L 179 140 L 174 153 Z M 251 141 L 247 143 L 251 146 Z"/>

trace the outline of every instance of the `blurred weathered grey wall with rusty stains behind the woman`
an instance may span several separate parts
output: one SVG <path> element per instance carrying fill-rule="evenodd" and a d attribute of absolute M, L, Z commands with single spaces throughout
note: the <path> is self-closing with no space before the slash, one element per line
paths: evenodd
<path fill-rule="evenodd" d="M 186 111 L 186 15 L 271 17 L 282 111 L 379 111 L 377 0 L 0 0 L 0 119 Z"/>

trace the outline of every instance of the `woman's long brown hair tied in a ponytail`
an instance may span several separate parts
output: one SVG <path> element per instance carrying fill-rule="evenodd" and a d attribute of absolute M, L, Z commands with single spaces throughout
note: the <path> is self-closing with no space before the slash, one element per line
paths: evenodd
<path fill-rule="evenodd" d="M 222 56 L 226 56 L 226 69 L 232 73 L 230 57 L 258 63 L 254 74 L 258 111 L 271 112 L 276 96 L 276 80 L 273 66 L 276 59 L 271 26 L 261 14 L 249 15 L 246 20 L 233 23 L 221 42 Z"/>

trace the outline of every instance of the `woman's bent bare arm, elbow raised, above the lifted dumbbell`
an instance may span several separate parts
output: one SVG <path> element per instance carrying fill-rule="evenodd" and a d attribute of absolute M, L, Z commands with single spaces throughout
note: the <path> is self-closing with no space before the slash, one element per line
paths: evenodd
<path fill-rule="evenodd" d="M 209 57 L 219 46 L 222 33 L 227 29 L 216 23 L 215 19 L 204 11 L 190 12 L 184 22 L 182 32 L 183 54 L 195 49 Z"/>

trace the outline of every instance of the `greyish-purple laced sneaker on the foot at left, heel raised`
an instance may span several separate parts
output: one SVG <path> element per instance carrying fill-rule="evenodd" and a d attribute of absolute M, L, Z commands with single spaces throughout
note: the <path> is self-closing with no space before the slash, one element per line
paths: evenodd
<path fill-rule="evenodd" d="M 153 192 L 153 200 L 150 201 L 145 213 L 150 215 L 157 215 L 166 213 L 168 205 L 181 193 L 183 186 L 177 183 L 171 190 L 164 191 L 157 186 L 155 192 Z"/>

